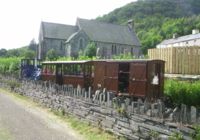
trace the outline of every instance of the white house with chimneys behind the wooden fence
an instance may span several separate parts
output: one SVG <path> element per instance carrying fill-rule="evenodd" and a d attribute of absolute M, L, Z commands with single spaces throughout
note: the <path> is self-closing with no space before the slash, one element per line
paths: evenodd
<path fill-rule="evenodd" d="M 200 46 L 200 33 L 199 30 L 192 30 L 192 34 L 177 37 L 173 35 L 172 39 L 167 39 L 158 44 L 157 48 L 168 48 L 168 47 L 189 47 L 189 46 Z"/>

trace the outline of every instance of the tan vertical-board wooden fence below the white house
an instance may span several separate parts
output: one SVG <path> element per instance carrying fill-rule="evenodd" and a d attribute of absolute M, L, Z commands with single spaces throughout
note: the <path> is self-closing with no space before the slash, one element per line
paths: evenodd
<path fill-rule="evenodd" d="M 200 75 L 200 47 L 149 49 L 148 56 L 164 60 L 165 73 Z"/>

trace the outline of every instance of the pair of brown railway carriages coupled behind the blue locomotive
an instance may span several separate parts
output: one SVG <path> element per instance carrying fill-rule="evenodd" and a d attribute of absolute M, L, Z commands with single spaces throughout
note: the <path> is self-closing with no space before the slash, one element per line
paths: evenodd
<path fill-rule="evenodd" d="M 45 61 L 41 80 L 152 100 L 163 97 L 164 67 L 163 60 L 150 59 Z"/>

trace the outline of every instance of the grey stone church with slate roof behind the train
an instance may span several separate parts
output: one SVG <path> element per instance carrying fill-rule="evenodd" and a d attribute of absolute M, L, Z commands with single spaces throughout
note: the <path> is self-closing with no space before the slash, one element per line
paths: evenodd
<path fill-rule="evenodd" d="M 141 45 L 131 25 L 131 22 L 115 25 L 80 18 L 75 26 L 42 22 L 38 58 L 45 58 L 50 49 L 55 49 L 60 56 L 77 57 L 90 42 L 95 43 L 101 58 L 128 52 L 139 56 Z"/>

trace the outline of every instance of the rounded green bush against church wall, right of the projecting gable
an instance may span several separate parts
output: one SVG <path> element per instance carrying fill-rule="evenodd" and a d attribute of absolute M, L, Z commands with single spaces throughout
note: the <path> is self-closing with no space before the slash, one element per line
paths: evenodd
<path fill-rule="evenodd" d="M 92 58 L 96 56 L 96 45 L 94 42 L 89 43 L 85 48 L 85 56 L 88 56 L 89 58 Z"/>

